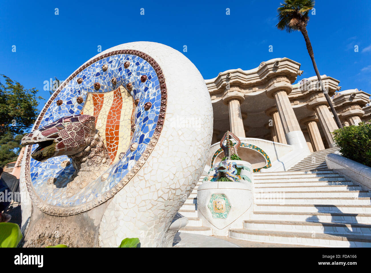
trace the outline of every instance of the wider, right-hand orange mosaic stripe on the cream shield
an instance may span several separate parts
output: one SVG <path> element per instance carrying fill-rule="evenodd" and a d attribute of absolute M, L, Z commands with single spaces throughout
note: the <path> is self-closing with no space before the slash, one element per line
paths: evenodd
<path fill-rule="evenodd" d="M 117 88 L 114 91 L 114 101 L 109 109 L 106 123 L 106 143 L 111 162 L 114 161 L 118 149 L 121 108 L 122 96 L 120 88 Z"/>

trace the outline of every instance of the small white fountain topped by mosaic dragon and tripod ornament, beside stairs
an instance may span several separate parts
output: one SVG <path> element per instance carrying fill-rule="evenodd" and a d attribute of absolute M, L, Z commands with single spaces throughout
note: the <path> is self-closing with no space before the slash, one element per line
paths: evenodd
<path fill-rule="evenodd" d="M 232 132 L 224 134 L 220 148 L 225 159 L 209 170 L 197 189 L 198 217 L 213 235 L 228 236 L 230 228 L 242 228 L 242 220 L 249 220 L 253 211 L 253 168 L 247 161 L 231 159 L 239 158 L 240 145 L 240 139 Z"/>

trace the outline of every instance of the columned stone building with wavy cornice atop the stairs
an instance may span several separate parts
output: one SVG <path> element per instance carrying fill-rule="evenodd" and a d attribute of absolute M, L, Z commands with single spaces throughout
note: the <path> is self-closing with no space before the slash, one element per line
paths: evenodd
<path fill-rule="evenodd" d="M 206 79 L 214 111 L 212 143 L 230 130 L 240 138 L 257 138 L 308 147 L 310 152 L 334 147 L 338 129 L 317 77 L 302 79 L 300 64 L 288 58 L 262 62 L 250 70 L 230 69 Z M 370 94 L 340 91 L 339 80 L 322 75 L 343 126 L 371 119 Z"/>

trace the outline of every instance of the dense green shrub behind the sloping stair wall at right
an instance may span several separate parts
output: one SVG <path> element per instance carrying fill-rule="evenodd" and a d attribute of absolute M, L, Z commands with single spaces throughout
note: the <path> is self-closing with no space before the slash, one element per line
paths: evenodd
<path fill-rule="evenodd" d="M 371 167 L 371 124 L 345 126 L 332 134 L 342 156 Z"/>

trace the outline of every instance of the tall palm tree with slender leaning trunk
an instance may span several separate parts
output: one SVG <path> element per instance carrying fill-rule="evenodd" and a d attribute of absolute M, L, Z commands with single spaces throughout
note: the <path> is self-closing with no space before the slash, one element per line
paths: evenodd
<path fill-rule="evenodd" d="M 316 72 L 319 86 L 326 97 L 327 103 L 330 105 L 332 114 L 334 114 L 336 124 L 339 128 L 342 128 L 341 122 L 339 120 L 338 114 L 335 111 L 334 105 L 327 91 L 324 90 L 321 75 L 319 74 L 316 61 L 314 59 L 313 48 L 311 45 L 311 40 L 309 40 L 308 31 L 306 30 L 306 25 L 309 21 L 309 11 L 313 9 L 315 4 L 314 0 L 285 0 L 285 3 L 281 3 L 280 7 L 277 9 L 278 12 L 278 24 L 277 28 L 279 30 L 286 30 L 290 33 L 293 31 L 300 31 L 304 37 L 306 43 L 306 49 L 308 50 L 309 56 L 312 59 L 313 68 Z"/>

